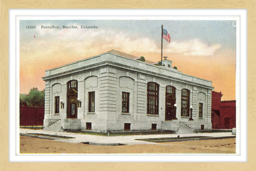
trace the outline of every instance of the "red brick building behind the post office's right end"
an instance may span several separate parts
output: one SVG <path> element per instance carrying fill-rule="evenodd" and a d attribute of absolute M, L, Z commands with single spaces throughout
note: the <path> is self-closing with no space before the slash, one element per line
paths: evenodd
<path fill-rule="evenodd" d="M 232 129 L 236 127 L 236 100 L 221 101 L 221 92 L 211 92 L 212 129 Z"/>

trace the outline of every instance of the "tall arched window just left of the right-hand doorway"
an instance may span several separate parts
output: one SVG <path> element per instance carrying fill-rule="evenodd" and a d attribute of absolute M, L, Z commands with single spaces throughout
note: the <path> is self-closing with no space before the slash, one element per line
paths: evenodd
<path fill-rule="evenodd" d="M 158 114 L 159 85 L 149 82 L 147 88 L 147 114 Z"/>

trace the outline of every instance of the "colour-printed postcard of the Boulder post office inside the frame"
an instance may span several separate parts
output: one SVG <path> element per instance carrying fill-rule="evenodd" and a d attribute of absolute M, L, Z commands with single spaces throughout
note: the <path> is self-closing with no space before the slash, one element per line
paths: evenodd
<path fill-rule="evenodd" d="M 239 24 L 19 19 L 18 154 L 238 155 Z"/>

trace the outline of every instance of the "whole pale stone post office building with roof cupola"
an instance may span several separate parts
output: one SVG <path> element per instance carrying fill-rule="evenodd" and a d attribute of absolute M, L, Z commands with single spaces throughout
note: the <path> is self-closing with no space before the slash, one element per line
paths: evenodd
<path fill-rule="evenodd" d="M 136 59 L 111 50 L 46 70 L 45 129 L 211 129 L 211 81 L 183 74 L 169 60 L 156 66 Z"/>

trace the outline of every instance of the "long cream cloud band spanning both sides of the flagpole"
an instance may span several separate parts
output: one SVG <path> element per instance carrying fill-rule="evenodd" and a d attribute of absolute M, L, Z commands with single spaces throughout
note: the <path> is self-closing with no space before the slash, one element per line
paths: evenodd
<path fill-rule="evenodd" d="M 37 29 L 39 40 L 36 43 L 34 41 L 31 42 L 30 47 L 33 48 L 33 44 L 40 44 L 42 52 L 46 54 L 52 53 L 54 46 L 56 48 L 65 47 L 66 50 L 76 51 L 77 53 L 83 53 L 87 50 L 98 51 L 99 49 L 105 51 L 121 49 L 126 53 L 132 51 L 159 53 L 161 51 L 160 42 L 150 39 L 150 37 L 131 37 L 124 31 L 80 29 L 81 26 L 77 24 L 67 25 L 77 26 L 79 29 Z M 41 37 L 44 38 L 41 39 Z M 51 42 L 54 42 L 55 45 L 51 44 Z M 98 44 L 98 46 L 95 46 L 95 44 Z M 192 39 L 183 40 L 182 42 L 174 40 L 165 44 L 164 50 L 187 56 L 212 56 L 219 48 L 221 48 L 220 44 L 208 44 L 199 39 Z"/>

